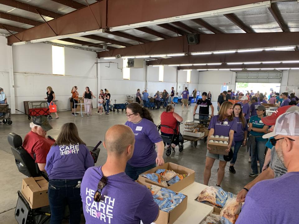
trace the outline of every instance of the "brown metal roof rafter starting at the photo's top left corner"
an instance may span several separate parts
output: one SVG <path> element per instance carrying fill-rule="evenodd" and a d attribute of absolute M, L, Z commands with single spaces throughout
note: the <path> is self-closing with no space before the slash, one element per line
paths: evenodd
<path fill-rule="evenodd" d="M 29 5 L 23 2 L 18 2 L 15 0 L 0 0 L 0 4 L 2 5 L 7 5 L 7 6 L 11 6 L 14 8 L 18 8 L 18 9 L 22 9 L 28 12 L 32 12 L 32 13 L 37 13 L 36 9 L 40 12 L 41 15 L 43 16 L 48 16 L 51 18 L 57 18 L 59 16 L 61 16 L 62 14 L 56 13 L 56 12 L 51 12 L 49 10 L 43 9 L 43 8 L 39 8 L 33 5 Z"/>

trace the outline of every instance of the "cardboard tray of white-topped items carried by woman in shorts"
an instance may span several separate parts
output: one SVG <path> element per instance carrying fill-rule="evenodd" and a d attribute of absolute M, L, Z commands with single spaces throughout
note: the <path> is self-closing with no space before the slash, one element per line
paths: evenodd
<path fill-rule="evenodd" d="M 211 135 L 208 139 L 208 147 L 212 149 L 210 150 L 210 153 L 228 155 L 228 152 L 225 151 L 227 149 L 228 142 L 228 136 Z"/>

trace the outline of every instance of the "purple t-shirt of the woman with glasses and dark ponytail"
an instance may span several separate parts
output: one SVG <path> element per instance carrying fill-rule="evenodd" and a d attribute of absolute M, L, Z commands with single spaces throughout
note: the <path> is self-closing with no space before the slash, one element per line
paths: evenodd
<path fill-rule="evenodd" d="M 155 143 L 163 141 L 157 126 L 143 118 L 138 124 L 126 122 L 135 134 L 135 146 L 132 158 L 128 161 L 131 166 L 144 167 L 156 163 L 157 152 Z"/>

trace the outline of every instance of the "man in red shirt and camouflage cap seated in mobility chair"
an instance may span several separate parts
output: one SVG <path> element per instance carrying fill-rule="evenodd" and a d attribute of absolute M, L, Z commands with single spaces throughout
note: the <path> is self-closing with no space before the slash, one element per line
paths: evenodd
<path fill-rule="evenodd" d="M 53 138 L 46 136 L 52 126 L 45 116 L 38 116 L 33 118 L 30 128 L 31 131 L 26 134 L 22 146 L 35 160 L 40 171 L 45 172 L 46 158 L 50 147 L 55 142 Z M 34 154 L 36 158 L 34 158 Z"/>

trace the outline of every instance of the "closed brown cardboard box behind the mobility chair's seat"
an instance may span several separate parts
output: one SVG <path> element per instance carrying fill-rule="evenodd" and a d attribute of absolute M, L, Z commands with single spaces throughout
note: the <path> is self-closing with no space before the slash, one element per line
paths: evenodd
<path fill-rule="evenodd" d="M 22 181 L 21 192 L 30 208 L 40 208 L 49 205 L 49 182 L 44 177 L 29 177 Z"/>

